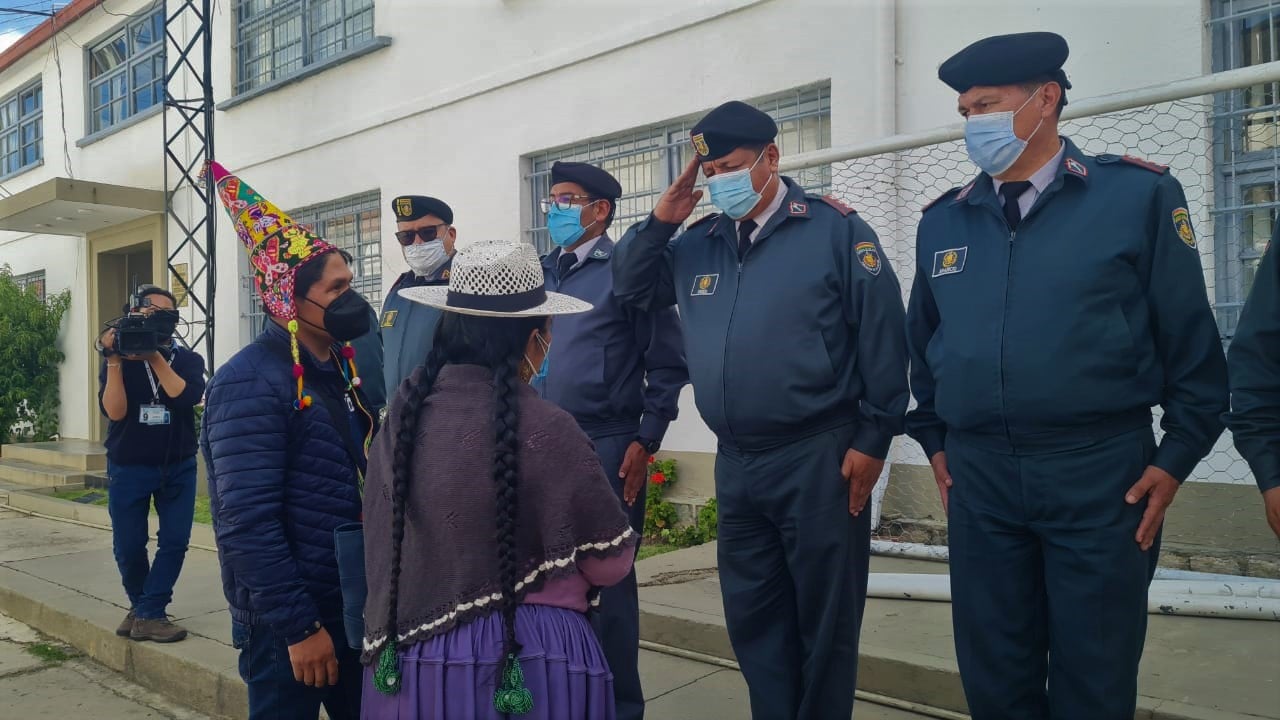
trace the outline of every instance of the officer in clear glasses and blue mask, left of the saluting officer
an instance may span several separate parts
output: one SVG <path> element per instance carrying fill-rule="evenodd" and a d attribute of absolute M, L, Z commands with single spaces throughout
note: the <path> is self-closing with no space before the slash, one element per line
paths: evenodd
<path fill-rule="evenodd" d="M 594 309 L 556 319 L 545 374 L 534 386 L 572 414 L 595 443 L 614 492 L 627 505 L 631 527 L 640 532 L 649 456 L 676 419 L 680 389 L 689 383 L 680 318 L 675 307 L 650 313 L 613 297 L 613 241 L 605 233 L 622 196 L 618 181 L 585 163 L 556 163 L 550 179 L 543 211 L 557 249 L 543 259 L 547 288 Z M 602 591 L 594 624 L 613 670 L 618 720 L 640 720 L 644 693 L 635 570 Z"/>

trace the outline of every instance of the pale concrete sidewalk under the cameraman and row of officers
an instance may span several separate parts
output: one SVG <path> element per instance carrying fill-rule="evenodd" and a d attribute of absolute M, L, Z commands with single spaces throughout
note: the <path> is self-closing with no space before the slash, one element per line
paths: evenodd
<path fill-rule="evenodd" d="M 724 634 L 714 544 L 637 565 L 645 641 L 732 659 Z M 945 565 L 876 559 L 877 571 L 943 571 Z M 230 621 L 216 556 L 192 550 L 170 606 L 192 630 L 172 646 L 115 637 L 124 607 L 110 533 L 0 510 L 0 612 L 64 641 L 97 662 L 207 715 L 244 717 Z M 644 652 L 655 717 L 748 716 L 741 676 L 713 665 Z M 1139 719 L 1280 719 L 1280 623 L 1151 618 Z M 859 689 L 964 711 L 951 650 L 950 607 L 868 601 Z M 859 703 L 859 720 L 910 714 Z"/>

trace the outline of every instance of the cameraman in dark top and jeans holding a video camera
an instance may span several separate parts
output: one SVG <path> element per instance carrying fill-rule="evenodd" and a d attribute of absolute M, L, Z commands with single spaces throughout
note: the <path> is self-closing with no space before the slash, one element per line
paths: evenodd
<path fill-rule="evenodd" d="M 178 642 L 187 630 L 169 621 L 196 510 L 196 411 L 205 393 L 205 359 L 173 341 L 178 324 L 173 293 L 154 284 L 133 293 L 129 315 L 146 318 L 159 347 L 140 355 L 116 351 L 116 329 L 101 340 L 99 405 L 106 430 L 111 488 L 111 544 L 129 614 L 115 634 L 136 641 Z M 160 532 L 147 562 L 147 518 L 155 500 Z"/>

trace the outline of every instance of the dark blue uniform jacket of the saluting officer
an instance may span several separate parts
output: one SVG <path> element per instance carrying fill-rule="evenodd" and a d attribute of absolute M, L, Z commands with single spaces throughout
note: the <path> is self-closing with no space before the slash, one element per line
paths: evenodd
<path fill-rule="evenodd" d="M 613 252 L 613 292 L 678 304 L 698 410 L 722 443 L 768 450 L 855 424 L 852 448 L 884 457 L 902 432 L 902 295 L 879 241 L 838 201 L 790 178 L 778 211 L 737 259 L 735 223 L 650 215 Z"/>

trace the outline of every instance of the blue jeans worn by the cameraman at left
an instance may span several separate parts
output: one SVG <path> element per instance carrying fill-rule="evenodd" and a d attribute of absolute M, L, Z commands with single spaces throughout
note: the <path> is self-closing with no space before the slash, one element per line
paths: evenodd
<path fill-rule="evenodd" d="M 108 474 L 111 477 L 108 496 L 111 547 L 129 607 L 138 618 L 164 618 L 191 542 L 196 459 L 160 466 L 111 462 Z M 160 532 L 156 533 L 155 560 L 147 562 L 147 516 L 152 500 L 160 516 Z"/>

